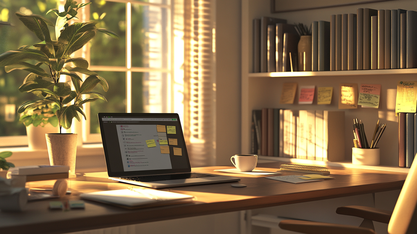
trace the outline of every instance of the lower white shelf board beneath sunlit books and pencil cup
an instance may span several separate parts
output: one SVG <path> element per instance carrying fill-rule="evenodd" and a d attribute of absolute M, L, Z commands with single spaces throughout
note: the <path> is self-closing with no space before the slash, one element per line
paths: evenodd
<path fill-rule="evenodd" d="M 288 162 L 288 163 L 317 165 L 317 166 L 324 166 L 324 167 L 335 166 L 335 167 L 343 167 L 343 168 L 382 170 L 382 171 L 392 171 L 392 172 L 402 172 L 402 173 L 408 173 L 408 171 L 410 170 L 410 168 L 390 167 L 390 166 L 381 166 L 381 165 L 378 165 L 378 166 L 355 165 L 355 164 L 352 164 L 352 162 L 348 162 L 348 161 L 326 162 L 326 161 L 317 161 L 317 160 L 300 159 L 300 158 L 283 158 L 283 157 L 271 157 L 271 156 L 262 156 L 262 155 L 258 156 L 258 160 L 281 161 L 281 162 Z"/>

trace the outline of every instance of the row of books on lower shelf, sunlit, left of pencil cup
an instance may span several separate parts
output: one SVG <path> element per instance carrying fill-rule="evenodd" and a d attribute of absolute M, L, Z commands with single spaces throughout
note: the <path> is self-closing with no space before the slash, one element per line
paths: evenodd
<path fill-rule="evenodd" d="M 263 108 L 252 114 L 252 154 L 344 160 L 344 111 Z"/>

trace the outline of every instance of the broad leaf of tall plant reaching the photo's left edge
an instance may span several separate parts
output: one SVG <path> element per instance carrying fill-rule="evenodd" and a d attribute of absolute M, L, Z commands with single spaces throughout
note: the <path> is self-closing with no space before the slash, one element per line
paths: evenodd
<path fill-rule="evenodd" d="M 42 51 L 35 49 L 24 48 L 6 51 L 5 53 L 0 54 L 0 66 L 8 66 L 26 60 L 36 60 L 49 64 L 48 56 Z"/>

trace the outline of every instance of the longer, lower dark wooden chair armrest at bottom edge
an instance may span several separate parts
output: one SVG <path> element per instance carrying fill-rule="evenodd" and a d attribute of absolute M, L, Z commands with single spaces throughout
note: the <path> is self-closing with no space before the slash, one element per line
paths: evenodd
<path fill-rule="evenodd" d="M 278 226 L 281 229 L 306 234 L 375 234 L 375 231 L 369 228 L 301 220 L 283 220 Z"/>

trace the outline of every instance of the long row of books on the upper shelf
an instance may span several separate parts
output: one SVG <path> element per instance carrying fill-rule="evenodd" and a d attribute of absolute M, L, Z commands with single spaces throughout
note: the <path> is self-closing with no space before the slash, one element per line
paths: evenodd
<path fill-rule="evenodd" d="M 402 9 L 358 8 L 357 14 L 331 15 L 330 22 L 314 21 L 311 70 L 417 68 L 415 25 L 417 12 Z M 284 19 L 253 20 L 253 72 L 296 71 L 294 26 Z"/>

